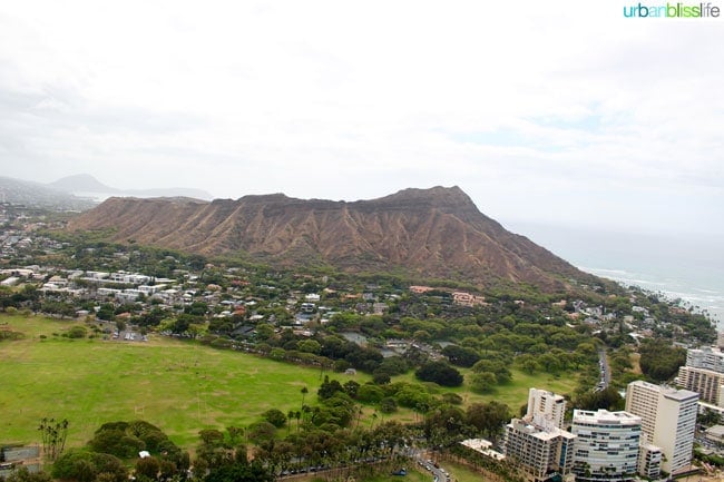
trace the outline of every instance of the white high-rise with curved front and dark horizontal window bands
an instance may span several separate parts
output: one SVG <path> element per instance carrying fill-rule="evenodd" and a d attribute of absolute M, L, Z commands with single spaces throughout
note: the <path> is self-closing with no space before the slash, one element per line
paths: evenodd
<path fill-rule="evenodd" d="M 574 411 L 576 482 L 626 482 L 638 472 L 640 416 L 627 412 Z"/>

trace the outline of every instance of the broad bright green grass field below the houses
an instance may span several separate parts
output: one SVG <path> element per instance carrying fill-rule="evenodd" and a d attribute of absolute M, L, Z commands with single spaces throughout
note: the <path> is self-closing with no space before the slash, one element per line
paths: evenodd
<path fill-rule="evenodd" d="M 190 449 L 198 443 L 202 429 L 246 426 L 272 407 L 284 413 L 300 410 L 304 386 L 310 392 L 305 402 L 316 403 L 319 368 L 160 336 L 146 343 L 59 336 L 75 324 L 0 316 L 0 329 L 25 334 L 20 341 L 0 342 L 0 444 L 38 442 L 42 417 L 70 422 L 69 446 L 87 442 L 102 423 L 141 419 Z M 350 380 L 324 374 L 341 383 Z M 399 378 L 414 381 L 414 375 Z M 358 373 L 353 380 L 365 383 L 370 377 Z M 497 400 L 516 413 L 530 386 L 567 393 L 575 384 L 570 377 L 520 372 L 513 372 L 513 380 L 486 396 L 469 393 L 464 386 L 452 391 L 467 403 Z M 365 409 L 366 423 L 372 423 L 372 412 Z M 414 415 L 401 411 L 393 417 L 412 421 Z"/>

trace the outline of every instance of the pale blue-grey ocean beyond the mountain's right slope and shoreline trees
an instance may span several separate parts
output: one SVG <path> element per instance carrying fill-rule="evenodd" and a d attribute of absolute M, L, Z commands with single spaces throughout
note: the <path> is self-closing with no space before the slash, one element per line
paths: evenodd
<path fill-rule="evenodd" d="M 724 237 L 635 234 L 505 223 L 509 230 L 597 276 L 681 298 L 724 329 Z"/>

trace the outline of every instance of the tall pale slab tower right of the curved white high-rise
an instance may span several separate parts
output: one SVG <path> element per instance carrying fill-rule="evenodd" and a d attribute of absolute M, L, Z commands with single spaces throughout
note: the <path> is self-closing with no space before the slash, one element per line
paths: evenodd
<path fill-rule="evenodd" d="M 648 443 L 663 452 L 662 470 L 674 474 L 692 461 L 698 393 L 636 381 L 626 390 L 626 411 L 642 419 Z"/>

